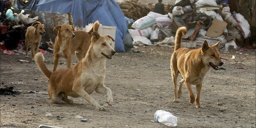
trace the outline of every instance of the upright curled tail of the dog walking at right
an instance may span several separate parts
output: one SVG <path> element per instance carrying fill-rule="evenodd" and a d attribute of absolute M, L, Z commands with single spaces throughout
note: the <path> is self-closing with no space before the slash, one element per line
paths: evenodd
<path fill-rule="evenodd" d="M 183 35 L 186 35 L 186 34 L 187 34 L 187 28 L 186 27 L 179 27 L 178 28 L 178 30 L 176 32 L 176 36 L 175 36 L 174 51 L 181 48 L 182 37 L 183 37 Z"/>

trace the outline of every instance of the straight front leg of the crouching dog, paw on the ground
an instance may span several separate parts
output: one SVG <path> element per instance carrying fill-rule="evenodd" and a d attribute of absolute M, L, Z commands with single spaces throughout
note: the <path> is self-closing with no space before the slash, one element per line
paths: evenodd
<path fill-rule="evenodd" d="M 96 107 L 96 110 L 106 110 L 103 106 L 100 106 L 92 97 L 89 95 L 84 88 L 82 88 L 82 85 L 80 84 L 80 81 L 76 82 L 73 86 L 73 91 L 75 91 L 79 96 L 87 100 L 91 105 Z"/>

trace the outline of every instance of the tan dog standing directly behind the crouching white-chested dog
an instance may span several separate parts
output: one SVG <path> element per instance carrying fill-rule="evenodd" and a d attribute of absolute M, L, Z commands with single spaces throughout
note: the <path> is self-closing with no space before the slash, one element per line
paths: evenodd
<path fill-rule="evenodd" d="M 67 60 L 67 68 L 71 66 L 71 55 L 75 52 L 77 59 L 82 60 L 91 44 L 91 33 L 98 31 L 99 21 L 94 22 L 92 29 L 89 32 L 75 31 L 74 26 L 63 24 L 54 27 L 58 31 L 54 44 L 54 64 L 53 71 L 57 69 L 59 57 Z M 75 38 L 76 37 L 76 38 Z"/>

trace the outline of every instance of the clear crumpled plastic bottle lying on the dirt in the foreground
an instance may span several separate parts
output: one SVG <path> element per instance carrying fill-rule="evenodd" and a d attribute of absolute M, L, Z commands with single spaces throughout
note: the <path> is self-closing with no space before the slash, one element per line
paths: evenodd
<path fill-rule="evenodd" d="M 162 123 L 166 126 L 175 127 L 178 123 L 176 116 L 172 115 L 170 112 L 164 110 L 157 110 L 154 118 L 159 123 Z"/>

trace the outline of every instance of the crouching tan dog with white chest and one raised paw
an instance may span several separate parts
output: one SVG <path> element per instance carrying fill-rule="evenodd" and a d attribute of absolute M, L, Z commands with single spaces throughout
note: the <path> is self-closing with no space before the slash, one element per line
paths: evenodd
<path fill-rule="evenodd" d="M 115 55 L 111 47 L 114 39 L 110 35 L 100 36 L 98 32 L 92 33 L 91 44 L 84 59 L 75 66 L 66 69 L 49 71 L 44 63 L 42 53 L 35 55 L 35 62 L 40 71 L 49 79 L 49 97 L 55 103 L 62 101 L 73 104 L 67 96 L 82 97 L 91 103 L 97 110 L 105 110 L 91 96 L 95 90 L 100 94 L 107 94 L 107 102 L 113 104 L 111 90 L 104 85 L 106 60 Z"/>

